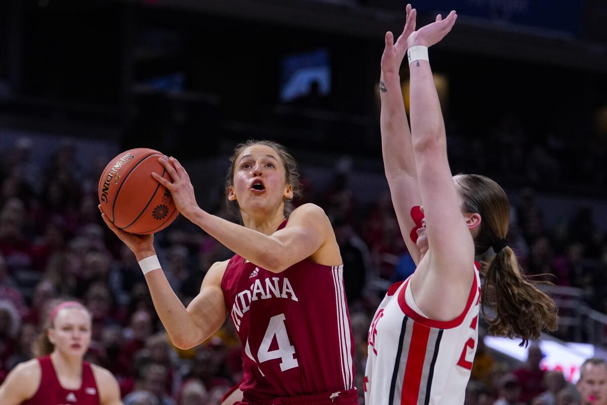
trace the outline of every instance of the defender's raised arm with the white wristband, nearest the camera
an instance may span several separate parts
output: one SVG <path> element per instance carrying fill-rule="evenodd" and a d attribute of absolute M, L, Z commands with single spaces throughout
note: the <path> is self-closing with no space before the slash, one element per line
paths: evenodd
<path fill-rule="evenodd" d="M 413 46 L 430 47 L 452 29 L 457 15 L 422 27 L 407 38 Z M 409 65 L 411 131 L 419 191 L 424 205 L 432 268 L 441 273 L 461 274 L 473 266 L 472 235 L 461 213 L 459 197 L 447 161 L 443 114 L 436 94 L 430 63 L 416 60 Z"/>

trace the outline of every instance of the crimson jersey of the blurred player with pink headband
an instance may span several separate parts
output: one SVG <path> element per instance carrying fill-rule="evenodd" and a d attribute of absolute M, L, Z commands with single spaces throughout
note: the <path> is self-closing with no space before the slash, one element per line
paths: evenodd
<path fill-rule="evenodd" d="M 90 364 L 82 363 L 80 389 L 68 390 L 61 386 L 49 356 L 38 358 L 41 376 L 38 390 L 22 405 L 99 405 L 99 391 Z"/>

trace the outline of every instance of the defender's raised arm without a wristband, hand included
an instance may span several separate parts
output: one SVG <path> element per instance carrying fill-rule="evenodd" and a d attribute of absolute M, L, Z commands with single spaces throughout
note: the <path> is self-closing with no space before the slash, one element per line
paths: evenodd
<path fill-rule="evenodd" d="M 381 58 L 381 146 L 384 155 L 385 177 L 390 186 L 392 204 L 396 211 L 398 225 L 407 249 L 418 264 L 419 248 L 410 237 L 416 224 L 411 217 L 413 206 L 421 205 L 415 157 L 411 143 L 411 132 L 402 100 L 399 70 L 407 53 L 407 38 L 415 31 L 416 10 L 407 4 L 407 22 L 401 36 L 394 43 L 392 32 L 385 34 L 384 54 Z"/>

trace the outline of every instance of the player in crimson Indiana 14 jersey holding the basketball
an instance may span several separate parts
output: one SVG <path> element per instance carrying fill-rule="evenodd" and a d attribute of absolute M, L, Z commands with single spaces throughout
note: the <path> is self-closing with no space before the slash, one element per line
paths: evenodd
<path fill-rule="evenodd" d="M 153 237 L 126 233 L 103 219 L 140 261 L 172 342 L 183 349 L 200 344 L 229 315 L 243 347 L 244 398 L 238 404 L 357 404 L 339 247 L 318 206 L 299 206 L 289 216 L 299 185 L 293 157 L 270 141 L 237 146 L 226 194 L 244 226 L 200 209 L 188 173 L 169 160 L 175 168 L 160 162 L 172 182 L 157 174 L 154 179 L 171 191 L 183 216 L 236 252 L 212 265 L 188 308 L 160 270 Z"/>

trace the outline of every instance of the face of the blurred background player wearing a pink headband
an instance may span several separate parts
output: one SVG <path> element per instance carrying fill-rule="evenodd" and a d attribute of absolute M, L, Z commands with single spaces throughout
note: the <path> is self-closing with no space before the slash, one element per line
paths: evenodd
<path fill-rule="evenodd" d="M 90 315 L 82 308 L 63 308 L 49 329 L 55 350 L 70 357 L 83 357 L 90 344 Z"/>

